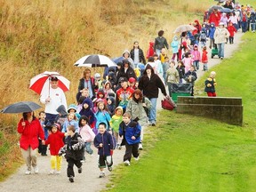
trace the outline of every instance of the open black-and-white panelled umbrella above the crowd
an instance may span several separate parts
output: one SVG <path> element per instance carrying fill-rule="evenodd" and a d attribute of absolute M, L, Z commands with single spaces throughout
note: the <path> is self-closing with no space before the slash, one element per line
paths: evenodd
<path fill-rule="evenodd" d="M 74 64 L 76 67 L 87 67 L 87 68 L 96 68 L 96 67 L 116 67 L 116 63 L 113 60 L 110 60 L 105 55 L 92 54 L 86 55 L 81 59 L 77 60 Z"/>

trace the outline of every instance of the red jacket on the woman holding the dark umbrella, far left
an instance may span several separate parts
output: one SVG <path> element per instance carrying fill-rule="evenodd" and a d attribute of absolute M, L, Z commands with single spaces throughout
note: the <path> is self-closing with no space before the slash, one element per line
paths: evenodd
<path fill-rule="evenodd" d="M 22 122 L 25 122 L 26 125 L 22 126 Z M 35 118 L 31 123 L 29 123 L 28 120 L 21 118 L 17 130 L 21 134 L 20 148 L 23 148 L 24 150 L 27 150 L 29 146 L 33 150 L 38 148 L 38 137 L 41 140 L 44 140 L 44 131 L 37 118 Z"/>

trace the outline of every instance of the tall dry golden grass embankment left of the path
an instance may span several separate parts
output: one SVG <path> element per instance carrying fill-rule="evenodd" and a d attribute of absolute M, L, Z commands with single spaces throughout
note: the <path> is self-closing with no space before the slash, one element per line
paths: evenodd
<path fill-rule="evenodd" d="M 38 102 L 39 96 L 28 90 L 29 80 L 45 70 L 58 71 L 71 81 L 66 96 L 68 104 L 75 102 L 84 68 L 75 68 L 73 63 L 80 57 L 91 53 L 120 56 L 132 48 L 134 40 L 146 52 L 159 29 L 171 41 L 174 28 L 201 18 L 195 14 L 210 4 L 178 2 L 172 1 L 171 6 L 149 0 L 0 0 L 0 108 L 21 100 Z M 16 169 L 13 162 L 23 162 L 17 145 L 19 119 L 20 115 L 0 114 L 0 180 Z"/>

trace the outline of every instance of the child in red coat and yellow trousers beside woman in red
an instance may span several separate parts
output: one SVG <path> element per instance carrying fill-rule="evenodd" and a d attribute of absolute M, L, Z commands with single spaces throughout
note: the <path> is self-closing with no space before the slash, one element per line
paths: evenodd
<path fill-rule="evenodd" d="M 51 134 L 48 139 L 43 141 L 43 145 L 50 144 L 51 153 L 51 168 L 50 174 L 56 173 L 60 174 L 62 156 L 59 156 L 59 150 L 64 146 L 63 138 L 67 136 L 68 133 L 60 132 L 60 124 L 52 124 Z"/>

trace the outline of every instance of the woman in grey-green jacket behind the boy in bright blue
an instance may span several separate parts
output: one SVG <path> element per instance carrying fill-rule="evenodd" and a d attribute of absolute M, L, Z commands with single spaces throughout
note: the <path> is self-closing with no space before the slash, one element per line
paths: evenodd
<path fill-rule="evenodd" d="M 126 113 L 130 113 L 132 115 L 132 120 L 137 121 L 141 126 L 139 144 L 140 150 L 143 148 L 143 130 L 148 125 L 147 111 L 149 111 L 150 108 L 152 108 L 150 100 L 142 95 L 140 89 L 136 89 L 132 94 L 132 100 L 129 100 L 127 103 Z"/>

